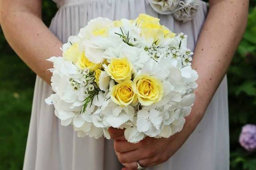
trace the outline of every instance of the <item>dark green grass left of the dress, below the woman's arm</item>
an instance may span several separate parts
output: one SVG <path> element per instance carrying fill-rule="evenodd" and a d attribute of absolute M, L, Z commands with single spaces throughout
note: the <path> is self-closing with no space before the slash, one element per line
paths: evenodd
<path fill-rule="evenodd" d="M 0 56 L 0 170 L 21 170 L 35 75 L 16 55 Z"/>

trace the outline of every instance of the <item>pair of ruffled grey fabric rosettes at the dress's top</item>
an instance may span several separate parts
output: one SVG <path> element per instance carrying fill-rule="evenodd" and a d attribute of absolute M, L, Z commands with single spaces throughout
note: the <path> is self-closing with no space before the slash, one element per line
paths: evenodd
<path fill-rule="evenodd" d="M 178 21 L 192 20 L 198 10 L 198 0 L 148 0 L 159 14 L 172 14 Z"/>

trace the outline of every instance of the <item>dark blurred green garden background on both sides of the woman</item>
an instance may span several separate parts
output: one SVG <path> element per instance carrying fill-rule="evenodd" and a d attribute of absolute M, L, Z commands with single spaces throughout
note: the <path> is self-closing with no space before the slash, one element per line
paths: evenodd
<path fill-rule="evenodd" d="M 49 26 L 57 8 L 43 0 L 43 21 Z M 0 170 L 22 169 L 30 121 L 35 74 L 20 60 L 0 30 Z M 10 69 L 11 68 L 11 69 Z M 256 124 L 256 0 L 244 38 L 228 70 L 230 170 L 256 170 L 256 153 L 238 143 L 241 127 Z"/>

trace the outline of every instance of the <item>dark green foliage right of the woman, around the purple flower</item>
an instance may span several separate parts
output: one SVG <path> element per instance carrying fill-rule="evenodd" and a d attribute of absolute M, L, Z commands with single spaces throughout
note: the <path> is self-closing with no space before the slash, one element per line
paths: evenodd
<path fill-rule="evenodd" d="M 228 69 L 228 97 L 230 169 L 256 170 L 256 153 L 238 143 L 242 126 L 256 124 L 256 0 L 250 1 L 247 28 Z"/>

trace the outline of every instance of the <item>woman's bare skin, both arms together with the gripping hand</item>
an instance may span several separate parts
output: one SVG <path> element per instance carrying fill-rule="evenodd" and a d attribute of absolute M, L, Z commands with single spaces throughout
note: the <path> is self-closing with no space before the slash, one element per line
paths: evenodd
<path fill-rule="evenodd" d="M 201 121 L 226 74 L 246 27 L 249 0 L 209 0 L 209 3 L 192 61 L 199 75 L 196 101 L 184 128 L 170 138 L 146 137 L 137 144 L 124 139 L 124 130 L 109 128 L 118 160 L 125 166 L 122 170 L 135 170 L 138 160 L 144 167 L 168 160 Z M 0 24 L 14 51 L 49 84 L 51 73 L 46 69 L 52 63 L 45 59 L 60 56 L 62 43 L 42 22 L 41 4 L 41 0 L 0 0 Z"/>

